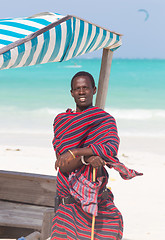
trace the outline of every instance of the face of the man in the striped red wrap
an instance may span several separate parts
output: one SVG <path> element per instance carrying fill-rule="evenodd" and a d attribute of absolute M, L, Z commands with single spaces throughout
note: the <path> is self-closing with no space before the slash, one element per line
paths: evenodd
<path fill-rule="evenodd" d="M 88 76 L 79 76 L 73 80 L 72 97 L 76 103 L 76 111 L 81 112 L 92 106 L 93 95 L 96 93 L 96 87 L 92 87 L 92 83 Z"/>

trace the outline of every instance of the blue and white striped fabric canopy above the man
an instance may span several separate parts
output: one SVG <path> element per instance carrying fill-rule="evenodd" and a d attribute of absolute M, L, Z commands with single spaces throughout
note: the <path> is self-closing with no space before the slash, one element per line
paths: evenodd
<path fill-rule="evenodd" d="M 121 34 L 71 15 L 0 19 L 0 69 L 66 61 L 120 45 Z"/>

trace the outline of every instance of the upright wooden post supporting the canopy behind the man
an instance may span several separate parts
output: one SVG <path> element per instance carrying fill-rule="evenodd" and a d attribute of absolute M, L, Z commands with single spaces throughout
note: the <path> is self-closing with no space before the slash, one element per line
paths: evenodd
<path fill-rule="evenodd" d="M 99 84 L 98 84 L 96 103 L 95 103 L 97 107 L 100 107 L 102 109 L 104 109 L 105 107 L 105 101 L 107 97 L 112 57 L 113 57 L 113 52 L 109 49 L 103 48 Z"/>

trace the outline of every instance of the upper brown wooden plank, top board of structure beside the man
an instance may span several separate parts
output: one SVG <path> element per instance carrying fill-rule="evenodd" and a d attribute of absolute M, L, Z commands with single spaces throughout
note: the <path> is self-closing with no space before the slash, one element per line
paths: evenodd
<path fill-rule="evenodd" d="M 0 199 L 54 207 L 56 177 L 0 171 Z"/>

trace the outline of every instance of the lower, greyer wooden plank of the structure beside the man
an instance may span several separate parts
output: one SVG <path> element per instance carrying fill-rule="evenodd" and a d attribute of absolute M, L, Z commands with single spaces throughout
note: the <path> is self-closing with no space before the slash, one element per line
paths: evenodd
<path fill-rule="evenodd" d="M 41 231 L 47 207 L 0 201 L 0 226 Z M 53 208 L 49 208 L 53 211 Z"/>

